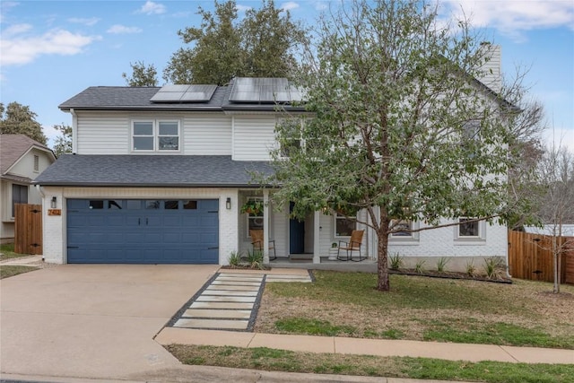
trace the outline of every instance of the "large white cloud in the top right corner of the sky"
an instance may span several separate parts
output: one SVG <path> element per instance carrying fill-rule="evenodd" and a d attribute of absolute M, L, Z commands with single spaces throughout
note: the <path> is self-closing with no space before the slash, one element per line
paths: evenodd
<path fill-rule="evenodd" d="M 458 17 L 470 18 L 476 27 L 489 27 L 517 40 L 527 30 L 567 27 L 574 30 L 574 2 L 571 0 L 447 0 Z"/>

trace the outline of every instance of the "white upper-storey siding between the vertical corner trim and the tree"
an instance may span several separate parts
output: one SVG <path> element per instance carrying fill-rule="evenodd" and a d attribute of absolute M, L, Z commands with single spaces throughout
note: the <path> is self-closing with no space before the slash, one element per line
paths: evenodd
<path fill-rule="evenodd" d="M 233 118 L 233 160 L 269 161 L 275 143 L 274 116 Z"/>

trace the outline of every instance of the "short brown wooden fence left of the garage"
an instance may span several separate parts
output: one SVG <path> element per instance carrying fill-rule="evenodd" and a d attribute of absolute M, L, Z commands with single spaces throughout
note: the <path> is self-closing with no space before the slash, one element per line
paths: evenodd
<path fill-rule="evenodd" d="M 16 204 L 14 252 L 42 254 L 42 205 Z"/>

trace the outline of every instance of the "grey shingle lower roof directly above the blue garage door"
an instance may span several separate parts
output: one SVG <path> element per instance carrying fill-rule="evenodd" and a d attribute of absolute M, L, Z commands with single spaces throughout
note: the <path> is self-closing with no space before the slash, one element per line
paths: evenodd
<path fill-rule="evenodd" d="M 252 172 L 272 174 L 266 161 L 221 155 L 64 154 L 34 184 L 82 187 L 258 187 Z"/>

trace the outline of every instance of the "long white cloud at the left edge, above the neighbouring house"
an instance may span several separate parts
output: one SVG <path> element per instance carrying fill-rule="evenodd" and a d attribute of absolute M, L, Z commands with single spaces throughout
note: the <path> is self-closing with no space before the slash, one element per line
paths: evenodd
<path fill-rule="evenodd" d="M 50 30 L 41 36 L 20 37 L 3 33 L 0 39 L 1 65 L 28 64 L 42 55 L 71 56 L 82 52 L 82 49 L 100 36 L 83 36 L 68 30 Z"/>

